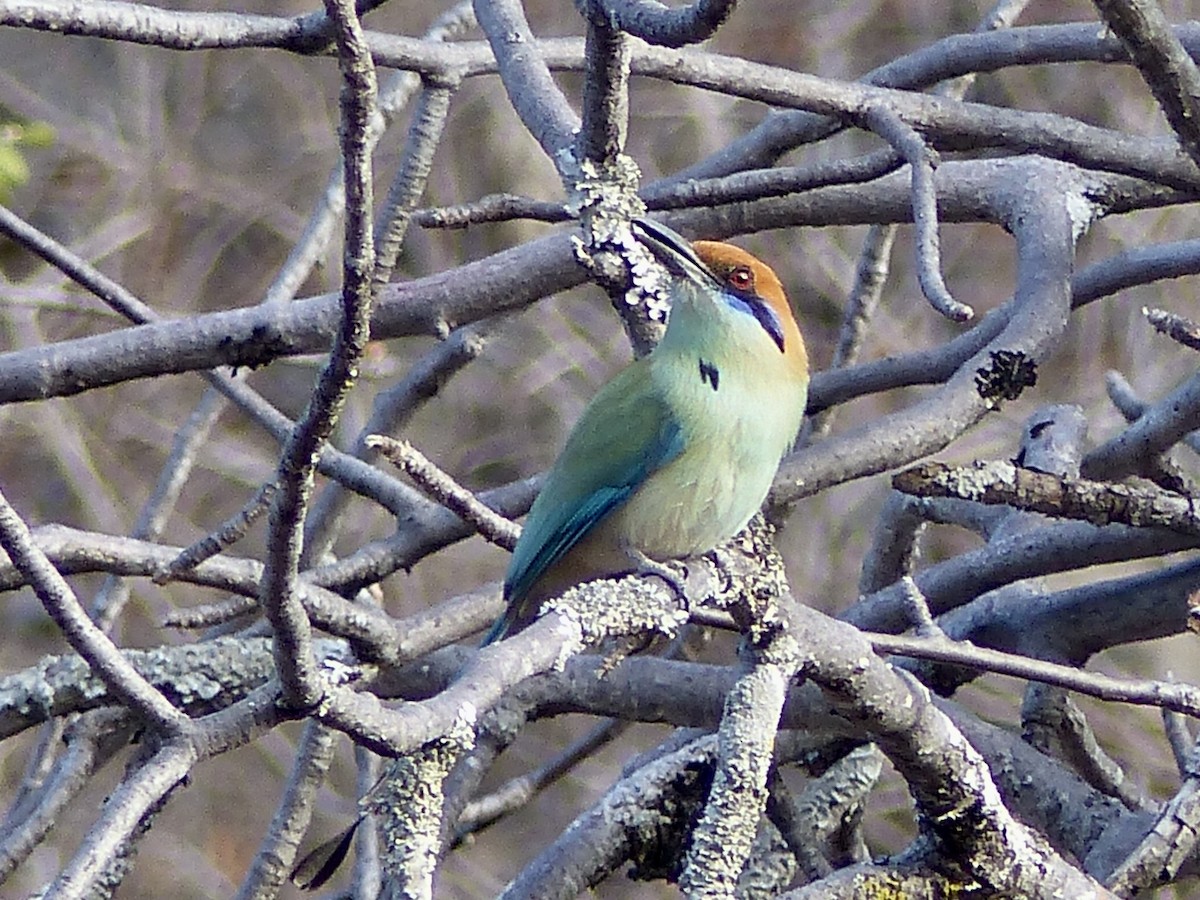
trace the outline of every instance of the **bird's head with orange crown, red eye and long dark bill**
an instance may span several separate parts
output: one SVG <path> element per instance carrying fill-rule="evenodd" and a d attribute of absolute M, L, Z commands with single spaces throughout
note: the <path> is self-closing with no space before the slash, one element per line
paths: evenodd
<path fill-rule="evenodd" d="M 632 228 L 637 240 L 676 277 L 677 288 L 685 288 L 683 294 L 677 292 L 677 301 L 689 296 L 701 305 L 710 304 L 721 323 L 769 338 L 791 367 L 808 372 L 804 340 L 784 286 L 769 265 L 732 244 L 690 244 L 659 222 L 638 218 Z M 703 308 L 700 312 L 706 313 Z M 751 343 L 760 346 L 762 341 L 752 338 Z"/>

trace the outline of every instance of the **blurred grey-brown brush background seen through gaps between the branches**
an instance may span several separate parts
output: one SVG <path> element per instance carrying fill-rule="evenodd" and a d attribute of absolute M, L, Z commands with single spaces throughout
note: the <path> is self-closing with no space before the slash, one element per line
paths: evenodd
<path fill-rule="evenodd" d="M 164 4 L 210 10 L 202 4 Z M 1168 0 L 1169 18 L 1200 12 L 1200 2 Z M 852 79 L 946 35 L 970 31 L 988 2 L 954 0 L 911 4 L 895 0 L 744 0 L 712 42 L 725 54 L 830 78 Z M 292 0 L 244 0 L 241 11 L 277 16 L 311 12 Z M 392 0 L 367 18 L 371 29 L 416 36 L 444 11 L 430 0 Z M 527 4 L 541 36 L 582 34 L 566 0 Z M 1032 2 L 1019 24 L 1096 20 L 1081 0 Z M 470 32 L 478 38 L 478 32 Z M 383 76 L 386 78 L 386 74 Z M 572 100 L 578 77 L 562 76 Z M 182 53 L 127 43 L 0 30 L 0 128 L 34 128 L 0 198 L 18 215 L 98 265 L 166 317 L 257 304 L 300 236 L 337 163 L 338 73 L 331 59 L 277 50 Z M 1052 110 L 1133 133 L 1163 134 L 1166 126 L 1139 76 L 1127 67 L 1040 66 L 984 76 L 979 100 L 1020 109 Z M 751 128 L 760 104 L 714 94 L 634 79 L 629 152 L 647 180 L 671 174 Z M 379 197 L 386 192 L 404 136 L 401 116 L 377 155 Z M 845 134 L 790 157 L 839 158 L 874 149 L 877 142 Z M 0 160 L 2 164 L 2 160 Z M 499 80 L 468 82 L 454 100 L 438 149 L 428 205 L 473 200 L 487 193 L 559 199 L 553 167 L 526 134 Z M 1129 247 L 1190 236 L 1193 212 L 1142 212 L 1099 223 L 1079 248 L 1080 266 Z M 413 228 L 397 278 L 452 268 L 551 228 L 532 222 L 478 226 L 466 230 Z M 809 341 L 814 366 L 828 365 L 853 282 L 865 227 L 791 229 L 737 239 L 770 262 L 787 286 Z M 1013 246 L 992 226 L 944 226 L 941 233 L 947 282 L 955 296 L 980 313 L 1004 301 L 1013 283 Z M 300 289 L 300 296 L 338 287 L 340 241 Z M 920 295 L 912 272 L 911 230 L 901 228 L 893 272 L 864 360 L 929 347 L 958 332 Z M 1163 282 L 1092 304 L 1073 316 L 1062 348 L 1043 367 L 1038 385 L 989 416 L 944 458 L 1008 458 L 1025 419 L 1040 404 L 1080 404 L 1091 442 L 1111 436 L 1123 421 L 1108 401 L 1104 373 L 1122 372 L 1152 401 L 1195 368 L 1195 356 L 1156 336 L 1140 314 L 1144 305 L 1194 314 L 1193 286 Z M 104 332 L 124 323 L 62 275 L 0 239 L 0 347 L 34 347 Z M 376 343 L 364 378 L 341 426 L 342 445 L 359 431 L 372 395 L 392 384 L 432 347 L 413 338 Z M 602 292 L 582 288 L 545 300 L 511 320 L 481 359 L 456 377 L 414 418 L 404 434 L 425 454 L 474 488 L 504 484 L 545 468 L 566 430 L 596 388 L 630 358 L 623 331 Z M 307 398 L 320 359 L 281 360 L 250 374 L 251 384 L 289 415 Z M 0 407 L 0 485 L 34 523 L 128 533 L 149 496 L 172 439 L 205 390 L 197 376 L 164 377 L 78 397 Z M 917 389 L 854 401 L 838 413 L 842 428 L 902 408 Z M 275 467 L 276 444 L 244 415 L 227 409 L 166 527 L 163 540 L 187 544 L 241 508 Z M 797 594 L 836 612 L 857 594 L 858 569 L 878 509 L 884 478 L 844 485 L 804 500 L 800 515 L 780 535 Z M 356 500 L 337 551 L 352 552 L 394 528 L 378 509 Z M 262 527 L 234 548 L 257 556 Z M 932 529 L 924 559 L 936 562 L 977 545 L 949 528 Z M 383 584 L 396 616 L 502 577 L 506 557 L 479 539 L 463 541 Z M 1153 563 L 1148 564 L 1153 565 Z M 1142 566 L 1145 568 L 1145 566 Z M 1132 571 L 1132 568 L 1126 568 Z M 1075 582 L 1102 572 L 1076 576 Z M 1103 572 L 1104 576 L 1117 570 Z M 1068 577 L 1052 580 L 1057 586 Z M 73 584 L 84 599 L 98 578 Z M 137 582 L 115 636 L 125 646 L 184 643 L 188 634 L 162 628 L 172 610 L 217 598 L 196 588 L 158 588 Z M 28 592 L 0 600 L 0 672 L 11 673 L 65 642 Z M 1194 638 L 1105 654 L 1096 666 L 1142 677 L 1200 680 Z M 965 691 L 994 721 L 1018 721 L 1022 685 L 989 677 Z M 1175 764 L 1157 713 L 1082 702 L 1102 742 L 1130 776 L 1156 796 L 1169 796 Z M 503 758 L 496 780 L 520 773 L 589 727 L 583 719 L 540 722 Z M 283 727 L 258 743 L 204 763 L 190 786 L 176 792 L 140 845 L 122 896 L 226 896 L 236 889 L 269 821 L 290 767 L 298 730 Z M 479 835 L 442 869 L 439 895 L 492 896 L 526 859 L 550 842 L 613 780 L 640 748 L 653 746 L 664 728 L 635 726 L 622 740 L 536 798 L 530 806 Z M 35 734 L 0 745 L 0 803 L 7 805 L 34 746 Z M 74 850 L 96 815 L 119 766 L 100 775 L 86 803 L 67 812 L 60 836 L 38 851 L 7 886 L 4 896 L 24 896 L 44 883 Z M 323 792 L 312 840 L 331 835 L 354 809 L 353 755 L 347 745 Z M 889 779 L 869 810 L 875 852 L 904 846 L 910 803 Z M 290 890 L 290 889 L 289 889 Z M 662 884 L 613 878 L 604 898 L 674 896 Z M 286 895 L 292 895 L 286 892 Z M 1172 889 L 1163 896 L 1200 896 Z"/>

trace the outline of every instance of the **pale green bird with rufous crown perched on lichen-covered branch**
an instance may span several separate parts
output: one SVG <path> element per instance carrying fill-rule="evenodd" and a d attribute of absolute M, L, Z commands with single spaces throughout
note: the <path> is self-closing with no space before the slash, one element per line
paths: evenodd
<path fill-rule="evenodd" d="M 584 581 L 704 553 L 758 511 L 808 401 L 809 361 L 775 272 L 647 218 L 670 274 L 666 331 L 584 408 L 526 518 L 486 647 Z"/>

